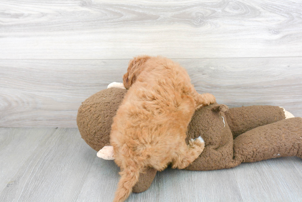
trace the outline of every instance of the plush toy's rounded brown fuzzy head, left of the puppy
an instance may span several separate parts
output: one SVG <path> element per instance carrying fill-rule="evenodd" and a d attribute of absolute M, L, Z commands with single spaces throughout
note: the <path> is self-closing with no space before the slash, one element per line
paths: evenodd
<path fill-rule="evenodd" d="M 126 93 L 126 89 L 105 89 L 82 102 L 76 122 L 82 138 L 92 149 L 99 151 L 110 145 L 113 117 Z"/>

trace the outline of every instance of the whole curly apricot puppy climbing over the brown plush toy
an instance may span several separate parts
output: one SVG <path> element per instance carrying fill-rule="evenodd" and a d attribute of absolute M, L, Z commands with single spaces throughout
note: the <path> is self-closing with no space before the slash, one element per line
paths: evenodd
<path fill-rule="evenodd" d="M 198 94 L 186 70 L 164 57 L 138 56 L 123 83 L 129 89 L 113 119 L 111 145 L 120 181 L 114 198 L 124 201 L 147 167 L 185 168 L 203 151 L 201 137 L 186 145 L 186 130 L 198 107 L 215 102 Z"/>

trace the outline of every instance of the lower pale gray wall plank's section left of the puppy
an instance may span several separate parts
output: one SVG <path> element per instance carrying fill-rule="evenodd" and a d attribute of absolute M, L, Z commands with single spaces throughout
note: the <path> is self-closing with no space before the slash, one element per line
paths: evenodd
<path fill-rule="evenodd" d="M 81 102 L 121 81 L 127 61 L 1 60 L 0 66 L 1 126 L 76 127 Z"/>

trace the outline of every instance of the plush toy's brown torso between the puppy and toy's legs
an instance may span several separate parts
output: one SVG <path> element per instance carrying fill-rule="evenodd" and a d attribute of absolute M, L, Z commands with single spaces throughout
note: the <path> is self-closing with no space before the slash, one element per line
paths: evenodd
<path fill-rule="evenodd" d="M 233 136 L 224 113 L 219 109 L 226 108 L 215 103 L 195 111 L 188 126 L 186 141 L 201 136 L 206 146 L 201 155 L 186 167 L 187 170 L 217 170 L 225 168 L 232 161 Z"/>

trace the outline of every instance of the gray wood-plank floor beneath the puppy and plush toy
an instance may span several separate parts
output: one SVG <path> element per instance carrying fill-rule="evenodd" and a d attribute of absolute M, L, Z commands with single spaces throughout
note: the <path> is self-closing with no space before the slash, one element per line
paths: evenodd
<path fill-rule="evenodd" d="M 112 201 L 113 161 L 96 157 L 76 128 L 0 128 L 0 201 Z M 127 202 L 302 201 L 302 160 L 242 163 L 232 169 L 158 172 Z"/>

